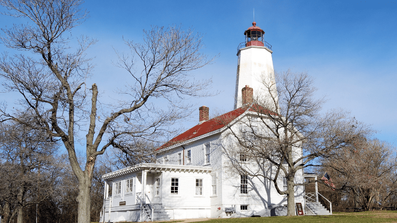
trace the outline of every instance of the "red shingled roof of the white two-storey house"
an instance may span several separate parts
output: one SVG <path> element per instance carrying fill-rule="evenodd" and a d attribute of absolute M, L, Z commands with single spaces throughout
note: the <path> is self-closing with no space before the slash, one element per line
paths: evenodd
<path fill-rule="evenodd" d="M 258 111 L 258 109 L 261 110 L 262 107 L 259 105 L 253 105 L 253 108 L 249 109 L 249 111 Z M 186 132 L 174 137 L 170 141 L 166 142 L 164 145 L 157 148 L 156 151 L 167 148 L 169 146 L 173 146 L 175 144 L 178 144 L 178 143 L 181 143 L 184 141 L 187 141 L 189 139 L 196 138 L 200 135 L 204 135 L 206 133 L 218 130 L 218 129 L 224 127 L 226 124 L 229 124 L 234 119 L 236 119 L 242 113 L 247 111 L 247 109 L 248 109 L 247 107 L 238 108 L 236 110 L 229 111 L 227 113 L 224 113 L 224 114 L 214 117 L 212 119 L 204 121 L 201 124 L 198 124 L 198 125 L 194 126 L 193 128 L 187 130 Z M 266 111 L 268 111 L 268 110 L 266 110 Z M 268 111 L 268 112 L 271 114 L 275 114 L 271 111 Z M 265 112 L 262 111 L 262 113 L 265 113 Z"/>

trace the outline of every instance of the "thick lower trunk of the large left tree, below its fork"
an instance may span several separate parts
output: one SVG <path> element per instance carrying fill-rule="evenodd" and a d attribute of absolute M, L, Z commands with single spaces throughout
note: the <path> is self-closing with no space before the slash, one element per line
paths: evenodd
<path fill-rule="evenodd" d="M 90 209 L 91 209 L 91 180 L 92 176 L 84 171 L 82 179 L 78 181 L 78 195 L 77 201 L 77 222 L 90 223 Z"/>

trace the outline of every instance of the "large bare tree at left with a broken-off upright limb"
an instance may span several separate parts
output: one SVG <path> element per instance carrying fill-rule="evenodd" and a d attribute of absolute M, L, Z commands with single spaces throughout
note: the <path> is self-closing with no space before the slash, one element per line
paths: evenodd
<path fill-rule="evenodd" d="M 1 108 L 1 121 L 14 120 L 40 126 L 50 137 L 60 138 L 78 179 L 78 222 L 90 221 L 90 191 L 97 156 L 108 147 L 142 137 L 158 139 L 168 126 L 190 114 L 184 100 L 207 95 L 210 81 L 196 81 L 189 71 L 212 59 L 199 53 L 201 36 L 181 27 L 152 27 L 144 31 L 143 43 L 128 42 L 133 56 L 119 53 L 118 65 L 131 75 L 124 100 L 98 114 L 98 86 L 91 94 L 82 89 L 91 77 L 92 64 L 85 51 L 96 41 L 78 39 L 74 53 L 69 31 L 86 17 L 81 0 L 0 0 L 9 11 L 5 14 L 25 17 L 27 25 L 2 29 L 2 43 L 25 54 L 3 56 L 0 75 L 6 90 L 19 92 L 20 110 L 15 116 Z M 140 70 L 135 72 L 135 70 Z M 122 95 L 120 95 L 122 96 Z M 157 102 L 162 106 L 156 106 Z M 157 104 L 156 104 L 157 103 Z M 85 120 L 88 120 L 87 122 Z M 86 129 L 86 160 L 79 164 L 75 143 Z M 105 138 L 104 138 L 105 137 Z M 133 149 L 133 148 L 130 148 Z"/>

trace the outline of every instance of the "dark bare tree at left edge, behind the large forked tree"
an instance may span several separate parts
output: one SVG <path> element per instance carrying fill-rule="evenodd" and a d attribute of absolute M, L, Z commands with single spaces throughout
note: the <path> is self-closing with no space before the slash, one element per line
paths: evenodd
<path fill-rule="evenodd" d="M 60 177 L 62 166 L 57 165 L 53 156 L 58 144 L 49 141 L 44 131 L 20 124 L 2 124 L 0 132 L 0 160 L 3 163 L 0 176 L 4 182 L 0 186 L 0 199 L 4 204 L 0 205 L 1 212 L 5 222 L 16 215 L 17 223 L 23 223 L 23 210 L 52 194 L 54 183 Z M 40 200 L 35 196 L 39 186 Z"/>

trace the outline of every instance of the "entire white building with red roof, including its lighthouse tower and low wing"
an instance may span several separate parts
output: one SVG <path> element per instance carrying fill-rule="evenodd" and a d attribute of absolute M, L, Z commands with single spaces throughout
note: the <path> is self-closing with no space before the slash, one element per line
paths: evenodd
<path fill-rule="evenodd" d="M 271 46 L 263 40 L 265 32 L 252 24 L 238 48 L 234 110 L 209 119 L 209 109 L 202 106 L 199 123 L 158 148 L 156 163 L 104 174 L 100 222 L 286 215 L 285 195 L 279 195 L 263 177 L 230 171 L 230 157 L 225 154 L 235 143 L 226 125 L 234 127 L 255 117 L 257 112 L 250 109 L 253 97 L 266 96 L 261 80 L 264 76 L 274 80 Z M 302 150 L 296 148 L 296 154 L 301 156 Z M 302 170 L 295 179 L 303 182 L 305 177 L 317 175 L 305 175 Z M 278 180 L 286 186 L 285 177 Z M 318 201 L 317 193 L 312 196 Z M 303 186 L 295 187 L 295 202 L 304 204 L 306 214 L 321 214 L 318 208 L 308 207 Z"/>

